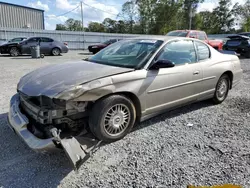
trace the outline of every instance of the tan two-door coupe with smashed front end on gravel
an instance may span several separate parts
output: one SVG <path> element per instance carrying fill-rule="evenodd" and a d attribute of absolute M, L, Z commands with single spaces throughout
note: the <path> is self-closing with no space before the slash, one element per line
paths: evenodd
<path fill-rule="evenodd" d="M 96 143 L 113 142 L 137 121 L 166 110 L 205 99 L 222 103 L 241 77 L 237 56 L 197 39 L 125 39 L 88 61 L 45 66 L 22 77 L 8 120 L 30 148 L 62 147 L 77 168 L 90 151 L 89 135 Z"/>

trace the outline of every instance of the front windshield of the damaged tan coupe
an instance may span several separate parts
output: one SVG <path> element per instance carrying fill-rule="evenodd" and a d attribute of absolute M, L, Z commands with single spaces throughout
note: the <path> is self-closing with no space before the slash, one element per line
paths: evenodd
<path fill-rule="evenodd" d="M 163 41 L 150 39 L 131 39 L 116 42 L 88 60 L 95 63 L 140 68 L 152 57 Z"/>

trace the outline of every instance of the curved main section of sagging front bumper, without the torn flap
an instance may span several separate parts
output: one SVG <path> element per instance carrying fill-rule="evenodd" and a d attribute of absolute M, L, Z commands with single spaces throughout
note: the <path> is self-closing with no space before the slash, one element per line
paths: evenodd
<path fill-rule="evenodd" d="M 9 127 L 14 130 L 14 132 L 17 133 L 34 151 L 49 152 L 57 150 L 53 142 L 54 138 L 40 139 L 27 129 L 29 120 L 24 114 L 21 113 L 19 104 L 19 95 L 15 94 L 10 101 L 10 110 L 8 114 Z"/>

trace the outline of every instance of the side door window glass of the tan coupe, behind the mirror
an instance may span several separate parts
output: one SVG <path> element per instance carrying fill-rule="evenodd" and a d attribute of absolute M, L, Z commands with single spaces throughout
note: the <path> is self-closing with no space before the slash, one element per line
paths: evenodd
<path fill-rule="evenodd" d="M 166 44 L 156 61 L 157 60 L 168 60 L 173 62 L 176 66 L 186 63 L 195 63 L 196 53 L 193 41 L 178 40 Z"/>

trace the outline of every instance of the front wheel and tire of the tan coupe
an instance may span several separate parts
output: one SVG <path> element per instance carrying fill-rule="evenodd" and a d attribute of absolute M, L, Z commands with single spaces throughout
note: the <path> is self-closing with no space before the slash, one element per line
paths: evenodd
<path fill-rule="evenodd" d="M 118 110 L 113 111 L 116 108 L 123 110 L 122 113 Z M 128 116 L 125 116 L 124 112 L 128 112 Z M 89 128 L 99 140 L 114 142 L 131 131 L 135 119 L 136 110 L 133 102 L 123 95 L 111 95 L 94 104 L 89 117 Z"/>

